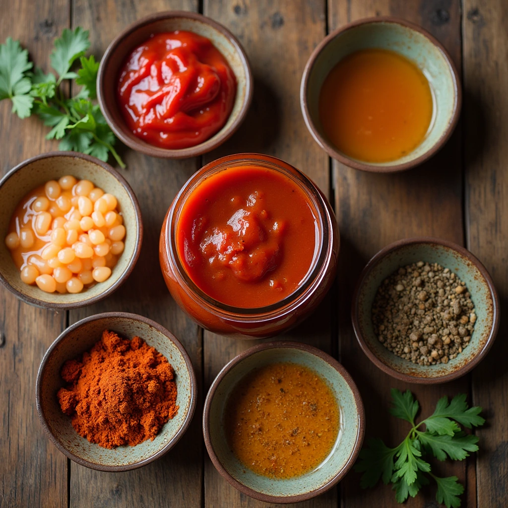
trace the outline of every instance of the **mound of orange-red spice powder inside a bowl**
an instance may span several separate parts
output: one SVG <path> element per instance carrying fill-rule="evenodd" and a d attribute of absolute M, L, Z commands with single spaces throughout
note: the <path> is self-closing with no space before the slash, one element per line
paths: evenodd
<path fill-rule="evenodd" d="M 178 412 L 173 367 L 139 337 L 105 330 L 81 361 L 63 364 L 60 375 L 69 383 L 57 393 L 61 410 L 79 435 L 104 448 L 153 440 Z"/>

